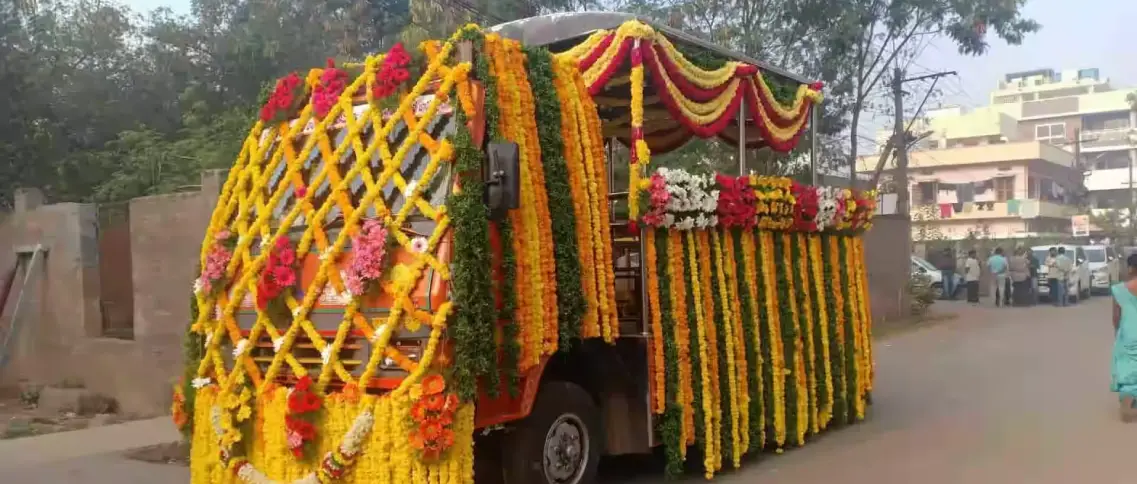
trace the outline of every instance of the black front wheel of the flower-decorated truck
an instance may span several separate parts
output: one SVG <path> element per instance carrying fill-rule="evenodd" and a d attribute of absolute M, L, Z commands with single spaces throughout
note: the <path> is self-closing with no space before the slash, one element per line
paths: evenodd
<path fill-rule="evenodd" d="M 591 484 L 600 464 L 596 404 L 575 384 L 541 386 L 533 411 L 501 449 L 506 484 Z"/>

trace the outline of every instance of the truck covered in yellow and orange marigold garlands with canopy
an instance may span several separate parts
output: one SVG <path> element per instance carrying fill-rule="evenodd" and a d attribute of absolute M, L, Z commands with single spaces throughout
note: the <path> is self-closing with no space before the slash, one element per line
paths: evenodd
<path fill-rule="evenodd" d="M 175 387 L 193 483 L 711 478 L 864 417 L 874 195 L 742 173 L 819 83 L 623 14 L 417 49 L 284 76 L 249 132 Z M 653 162 L 694 137 L 739 168 Z"/>

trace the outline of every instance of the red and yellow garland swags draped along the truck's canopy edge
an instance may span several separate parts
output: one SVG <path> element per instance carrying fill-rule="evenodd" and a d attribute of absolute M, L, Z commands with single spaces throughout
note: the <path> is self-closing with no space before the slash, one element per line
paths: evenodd
<path fill-rule="evenodd" d="M 736 140 L 735 130 L 728 130 L 745 102 L 762 136 L 761 143 L 775 151 L 790 151 L 805 131 L 810 108 L 822 99 L 821 83 L 813 83 L 798 86 L 794 101 L 782 105 L 756 66 L 732 60 L 716 69 L 704 69 L 687 59 L 663 34 L 638 20 L 625 22 L 615 32 L 597 32 L 561 56 L 579 62 L 594 98 L 625 62 L 631 65 L 628 217 L 633 232 L 640 215 L 639 192 L 649 184 L 645 176 L 653 149 L 678 148 L 691 135 L 720 136 L 753 145 L 749 140 Z M 647 72 L 658 100 L 680 125 L 653 132 L 650 137 L 645 135 L 644 126 Z"/>

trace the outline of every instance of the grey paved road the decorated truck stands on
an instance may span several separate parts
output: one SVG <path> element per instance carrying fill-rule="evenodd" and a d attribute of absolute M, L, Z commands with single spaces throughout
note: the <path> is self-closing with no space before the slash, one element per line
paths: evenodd
<path fill-rule="evenodd" d="M 1132 483 L 1137 425 L 1118 420 L 1107 392 L 1106 298 L 1064 309 L 951 310 L 960 318 L 878 342 L 869 422 L 716 482 Z M 188 482 L 184 468 L 107 456 L 3 467 L 0 457 L 3 481 L 22 484 Z M 607 481 L 661 482 L 649 472 Z"/>

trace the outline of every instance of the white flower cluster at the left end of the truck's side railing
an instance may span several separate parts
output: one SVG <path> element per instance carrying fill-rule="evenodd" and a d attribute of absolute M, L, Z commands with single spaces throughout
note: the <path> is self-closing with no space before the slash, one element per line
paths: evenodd
<path fill-rule="evenodd" d="M 719 190 L 711 175 L 695 175 L 681 169 L 659 168 L 667 190 L 663 227 L 680 231 L 708 228 L 719 224 Z"/>

